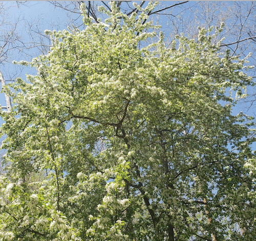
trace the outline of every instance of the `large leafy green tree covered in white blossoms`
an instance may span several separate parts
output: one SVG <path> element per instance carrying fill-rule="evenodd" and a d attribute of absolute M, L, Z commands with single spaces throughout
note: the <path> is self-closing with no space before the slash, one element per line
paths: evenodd
<path fill-rule="evenodd" d="M 148 44 L 154 6 L 84 13 L 21 62 L 38 75 L 6 87 L 1 240 L 255 238 L 253 123 L 232 115 L 246 60 L 220 53 L 222 27 Z"/>

